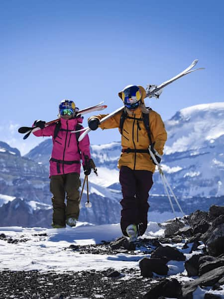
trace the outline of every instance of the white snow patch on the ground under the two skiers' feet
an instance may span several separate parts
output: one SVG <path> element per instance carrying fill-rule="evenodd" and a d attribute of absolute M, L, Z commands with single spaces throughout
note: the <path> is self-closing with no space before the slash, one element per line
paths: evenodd
<path fill-rule="evenodd" d="M 76 228 L 64 229 L 0 227 L 0 234 L 2 233 L 12 239 L 28 239 L 28 241 L 15 244 L 0 240 L 0 271 L 68 272 L 91 269 L 100 271 L 108 268 L 122 270 L 138 267 L 138 261 L 141 258 L 149 257 L 149 255 L 143 254 L 140 256 L 80 254 L 68 249 L 71 244 L 97 244 L 102 240 L 111 241 L 120 237 L 119 224 L 95 226 L 81 223 Z M 41 234 L 47 234 L 47 236 L 40 236 Z M 157 223 L 150 222 L 143 237 L 159 237 L 163 234 L 164 230 Z M 171 271 L 174 269 L 172 268 Z"/>

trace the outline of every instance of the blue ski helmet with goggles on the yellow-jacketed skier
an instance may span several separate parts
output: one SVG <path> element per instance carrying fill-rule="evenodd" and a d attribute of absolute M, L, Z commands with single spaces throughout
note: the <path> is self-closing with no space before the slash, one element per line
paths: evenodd
<path fill-rule="evenodd" d="M 121 99 L 128 109 L 136 109 L 140 105 L 141 90 L 136 85 L 128 85 L 121 92 Z"/>

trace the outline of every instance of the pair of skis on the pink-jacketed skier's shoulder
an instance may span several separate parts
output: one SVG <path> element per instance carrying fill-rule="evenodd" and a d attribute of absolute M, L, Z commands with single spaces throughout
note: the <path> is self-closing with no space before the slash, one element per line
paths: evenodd
<path fill-rule="evenodd" d="M 77 111 L 76 116 L 78 117 L 78 116 L 81 116 L 81 115 L 83 115 L 83 114 L 87 114 L 87 113 L 89 113 L 89 112 L 99 111 L 99 110 L 104 110 L 104 109 L 107 108 L 108 106 L 107 106 L 107 105 L 103 105 L 103 103 L 104 103 L 104 102 L 101 102 L 101 103 L 99 103 L 99 104 L 97 104 L 97 105 L 90 106 L 90 107 L 85 108 L 85 109 L 81 109 L 81 110 Z M 53 121 L 50 121 L 50 122 L 47 122 L 47 123 L 45 124 L 45 127 L 47 127 L 47 126 L 49 126 L 49 125 L 52 125 L 52 124 L 58 122 L 59 120 L 60 120 L 60 118 L 58 118 L 58 119 L 56 119 L 56 120 L 53 120 Z M 34 127 L 20 127 L 20 128 L 18 129 L 18 133 L 21 133 L 21 134 L 25 134 L 25 133 L 27 133 L 27 134 L 23 137 L 23 139 L 26 139 L 26 138 L 30 135 L 31 132 L 36 132 L 36 131 L 38 131 L 38 130 L 41 130 L 41 129 L 40 129 L 39 127 L 35 127 L 35 126 L 34 126 Z"/>

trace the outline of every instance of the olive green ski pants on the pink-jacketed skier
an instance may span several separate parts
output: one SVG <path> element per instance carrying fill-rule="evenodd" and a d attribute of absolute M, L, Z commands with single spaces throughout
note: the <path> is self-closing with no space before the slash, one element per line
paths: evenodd
<path fill-rule="evenodd" d="M 51 175 L 50 191 L 53 205 L 53 224 L 65 226 L 66 219 L 79 218 L 79 173 Z M 65 196 L 67 203 L 65 204 Z"/>

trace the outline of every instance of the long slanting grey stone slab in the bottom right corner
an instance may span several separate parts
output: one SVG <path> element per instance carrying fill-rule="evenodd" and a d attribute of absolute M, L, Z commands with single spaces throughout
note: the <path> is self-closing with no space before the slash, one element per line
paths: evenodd
<path fill-rule="evenodd" d="M 223 276 L 224 267 L 220 267 L 203 274 L 200 278 L 195 279 L 194 281 L 185 283 L 182 287 L 183 298 L 192 298 L 192 293 L 197 289 L 199 285 L 204 287 L 211 287 L 215 285 Z"/>

